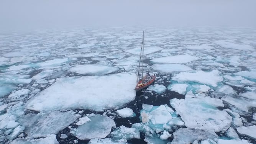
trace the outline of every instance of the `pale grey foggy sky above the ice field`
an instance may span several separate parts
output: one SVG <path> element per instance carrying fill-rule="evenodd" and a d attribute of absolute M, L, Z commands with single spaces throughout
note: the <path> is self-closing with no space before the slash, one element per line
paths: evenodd
<path fill-rule="evenodd" d="M 256 27 L 256 0 L 0 0 L 2 31 L 120 25 Z"/>

